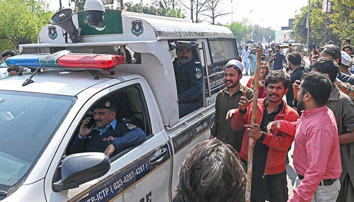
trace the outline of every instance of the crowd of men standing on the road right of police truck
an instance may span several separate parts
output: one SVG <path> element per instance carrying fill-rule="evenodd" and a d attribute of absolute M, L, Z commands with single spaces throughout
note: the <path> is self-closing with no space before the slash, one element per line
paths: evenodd
<path fill-rule="evenodd" d="M 250 64 L 252 49 L 247 46 L 243 49 L 243 64 L 237 60 L 226 64 L 225 89 L 216 97 L 210 142 L 198 145 L 181 166 L 180 184 L 176 188 L 180 201 L 243 201 L 235 192 L 244 196 L 245 189 L 240 188 L 244 175 L 240 172 L 247 171 L 249 138 L 256 140 L 252 202 L 354 201 L 354 77 L 350 73 L 353 64 L 350 40 L 345 39 L 342 48 L 326 44 L 314 50 L 311 64 L 306 67 L 296 51 L 284 56 L 279 53 L 279 47 L 275 49 L 276 54 L 272 54 L 270 48 L 264 57 L 265 61 L 273 63 L 273 68 L 265 77 L 267 97 L 258 98 L 256 120 L 252 125 L 253 90 L 240 83 L 244 72 L 254 73 Z M 283 68 L 283 61 L 288 70 Z M 217 149 L 210 144 L 219 142 L 222 142 L 220 149 L 228 147 L 226 144 L 237 151 L 235 154 L 233 149 L 228 150 L 235 155 L 233 159 L 228 155 L 224 158 L 211 155 Z M 297 177 L 294 192 L 289 197 L 285 167 L 293 142 Z M 226 166 L 224 175 L 215 178 L 220 171 L 210 161 L 224 166 L 235 164 L 234 161 L 241 164 L 234 165 L 234 172 Z M 229 194 L 231 200 L 220 194 Z"/>

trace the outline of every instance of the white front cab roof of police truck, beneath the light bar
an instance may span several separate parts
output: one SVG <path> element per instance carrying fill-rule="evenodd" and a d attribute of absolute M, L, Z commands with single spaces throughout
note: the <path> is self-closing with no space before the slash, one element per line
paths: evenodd
<path fill-rule="evenodd" d="M 116 74 L 116 77 L 124 77 L 126 74 Z M 38 72 L 32 78 L 34 81 L 26 86 L 22 86 L 23 82 L 28 79 L 31 74 L 23 74 L 22 76 L 11 76 L 2 78 L 0 90 L 14 90 L 37 93 L 49 93 L 75 96 L 81 91 L 93 87 L 95 91 L 106 88 L 105 85 L 99 85 L 102 82 L 112 80 L 110 77 L 100 76 L 95 80 L 88 71 L 68 72 L 49 70 Z M 114 82 L 119 83 L 118 79 Z"/>

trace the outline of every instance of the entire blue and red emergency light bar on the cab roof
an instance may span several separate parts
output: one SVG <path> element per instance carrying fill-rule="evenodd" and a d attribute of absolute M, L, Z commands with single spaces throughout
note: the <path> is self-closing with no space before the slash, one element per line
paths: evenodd
<path fill-rule="evenodd" d="M 88 70 L 112 70 L 123 64 L 125 58 L 120 55 L 72 54 L 61 51 L 47 55 L 18 55 L 6 59 L 7 65 L 39 68 L 75 68 Z"/>

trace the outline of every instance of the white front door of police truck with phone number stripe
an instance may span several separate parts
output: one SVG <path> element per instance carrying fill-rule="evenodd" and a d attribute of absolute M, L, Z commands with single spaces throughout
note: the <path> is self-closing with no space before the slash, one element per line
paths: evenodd
<path fill-rule="evenodd" d="M 83 117 L 98 100 L 120 92 L 128 95 L 132 118 L 139 120 L 137 123 L 140 123 L 140 127 L 146 132 L 146 140 L 111 157 L 111 168 L 104 176 L 86 182 L 77 188 L 55 192 L 52 184 L 60 179 L 61 161 L 72 138 L 78 135 L 78 127 Z M 77 103 L 80 97 L 78 95 Z M 74 112 L 76 116 L 68 126 L 53 159 L 45 179 L 47 200 L 139 202 L 170 200 L 170 148 L 166 134 L 161 128 L 162 120 L 158 112 L 152 92 L 142 79 L 113 85 L 93 95 L 79 111 Z"/>

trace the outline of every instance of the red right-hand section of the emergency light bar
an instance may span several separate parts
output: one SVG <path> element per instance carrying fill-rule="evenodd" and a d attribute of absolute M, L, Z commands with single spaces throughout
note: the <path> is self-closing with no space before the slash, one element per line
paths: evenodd
<path fill-rule="evenodd" d="M 111 70 L 123 64 L 125 59 L 120 55 L 84 55 L 69 54 L 57 60 L 57 64 L 64 68 L 103 69 Z"/>

